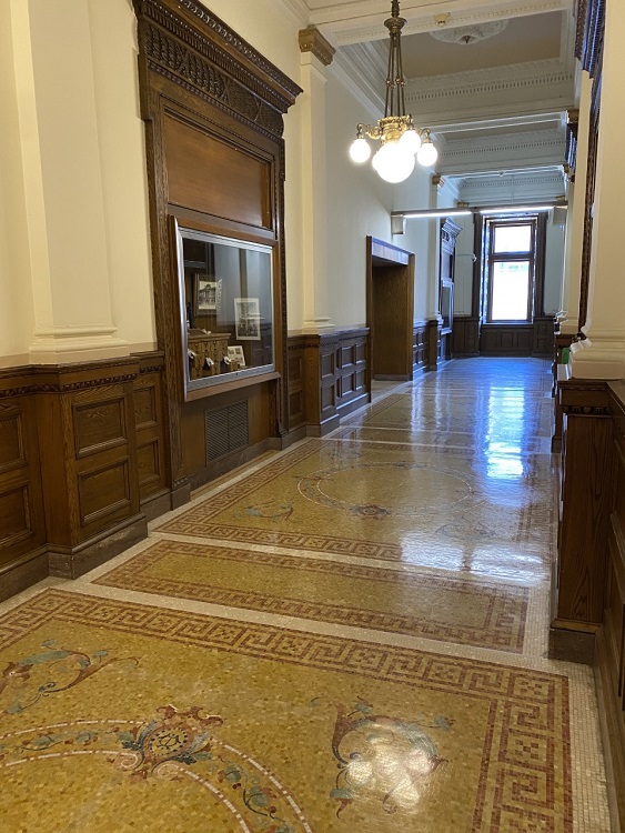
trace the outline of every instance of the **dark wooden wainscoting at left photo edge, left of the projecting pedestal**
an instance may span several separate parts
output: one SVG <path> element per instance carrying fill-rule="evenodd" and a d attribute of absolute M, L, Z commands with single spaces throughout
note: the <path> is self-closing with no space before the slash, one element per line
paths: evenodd
<path fill-rule="evenodd" d="M 0 601 L 48 575 L 30 369 L 0 371 Z"/>

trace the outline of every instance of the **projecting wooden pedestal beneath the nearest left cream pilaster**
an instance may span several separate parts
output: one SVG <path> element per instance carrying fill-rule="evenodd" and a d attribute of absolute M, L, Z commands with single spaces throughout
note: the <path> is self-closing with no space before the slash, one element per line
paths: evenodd
<path fill-rule="evenodd" d="M 75 578 L 148 533 L 139 505 L 135 359 L 34 368 L 50 573 Z"/>

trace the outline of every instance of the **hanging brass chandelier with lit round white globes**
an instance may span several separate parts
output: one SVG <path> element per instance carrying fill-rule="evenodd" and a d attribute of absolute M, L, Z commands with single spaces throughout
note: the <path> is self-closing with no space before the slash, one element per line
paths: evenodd
<path fill-rule="evenodd" d="M 352 161 L 362 163 L 371 155 L 371 145 L 364 137 L 380 140 L 382 144 L 373 154 L 371 163 L 386 182 L 403 182 L 407 179 L 414 170 L 415 154 L 416 161 L 425 167 L 433 165 L 438 157 L 430 130 L 417 129 L 412 116 L 406 116 L 400 42 L 405 22 L 405 19 L 400 17 L 400 1 L 392 0 L 391 17 L 384 21 L 391 34 L 384 118 L 379 119 L 377 124 L 359 124 L 356 138 L 350 147 Z"/>

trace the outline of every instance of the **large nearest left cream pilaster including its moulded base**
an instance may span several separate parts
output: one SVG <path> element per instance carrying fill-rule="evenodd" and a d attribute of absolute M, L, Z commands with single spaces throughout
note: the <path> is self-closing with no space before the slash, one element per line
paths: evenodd
<path fill-rule="evenodd" d="M 115 337 L 112 320 L 89 8 L 75 0 L 14 6 L 20 119 L 29 126 L 22 130 L 24 182 L 36 208 L 29 219 L 30 361 L 124 355 L 128 344 Z"/>

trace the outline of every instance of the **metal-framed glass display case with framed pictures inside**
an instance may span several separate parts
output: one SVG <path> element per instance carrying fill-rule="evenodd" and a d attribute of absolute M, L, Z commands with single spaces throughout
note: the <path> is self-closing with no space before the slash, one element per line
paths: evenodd
<path fill-rule="evenodd" d="M 185 391 L 275 370 L 272 247 L 175 230 Z"/>

